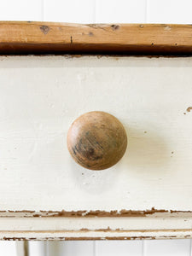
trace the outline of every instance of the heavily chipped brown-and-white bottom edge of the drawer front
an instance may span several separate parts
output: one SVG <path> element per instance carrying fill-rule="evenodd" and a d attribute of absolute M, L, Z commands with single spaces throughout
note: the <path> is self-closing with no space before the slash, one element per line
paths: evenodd
<path fill-rule="evenodd" d="M 0 218 L 6 217 L 20 217 L 20 218 L 48 218 L 48 217 L 63 217 L 63 218 L 82 218 L 82 217 L 192 217 L 192 211 L 177 211 L 177 210 L 163 210 L 163 209 L 155 209 L 152 207 L 150 210 L 125 210 L 122 209 L 120 211 L 30 211 L 30 210 L 22 210 L 22 211 L 0 211 Z"/>

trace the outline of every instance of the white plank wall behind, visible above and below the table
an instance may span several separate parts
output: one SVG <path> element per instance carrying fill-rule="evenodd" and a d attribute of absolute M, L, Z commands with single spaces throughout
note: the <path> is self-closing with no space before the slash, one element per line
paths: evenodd
<path fill-rule="evenodd" d="M 192 24 L 192 0 L 0 0 L 0 20 Z M 30 256 L 192 256 L 192 242 L 31 241 L 29 252 Z M 15 241 L 0 241 L 0 255 L 16 256 Z"/>

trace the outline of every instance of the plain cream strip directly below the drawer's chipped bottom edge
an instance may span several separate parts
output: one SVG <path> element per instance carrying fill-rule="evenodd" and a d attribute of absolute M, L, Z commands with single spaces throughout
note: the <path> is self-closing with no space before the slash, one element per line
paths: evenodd
<path fill-rule="evenodd" d="M 16 221 L 15 221 L 16 219 Z M 4 231 L 86 231 L 103 230 L 119 233 L 126 230 L 189 230 L 192 218 L 0 218 Z M 191 230 L 192 231 L 192 230 Z"/>

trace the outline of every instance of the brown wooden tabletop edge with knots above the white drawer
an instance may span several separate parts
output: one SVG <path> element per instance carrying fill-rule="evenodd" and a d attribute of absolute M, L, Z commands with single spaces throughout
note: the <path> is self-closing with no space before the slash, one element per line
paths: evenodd
<path fill-rule="evenodd" d="M 192 54 L 192 26 L 0 22 L 0 54 Z"/>

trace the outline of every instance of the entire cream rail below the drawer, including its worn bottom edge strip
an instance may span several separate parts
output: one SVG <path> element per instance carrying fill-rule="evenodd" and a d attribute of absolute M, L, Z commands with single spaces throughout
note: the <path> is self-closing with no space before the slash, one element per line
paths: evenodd
<path fill-rule="evenodd" d="M 0 218 L 3 240 L 191 238 L 192 218 Z"/>

